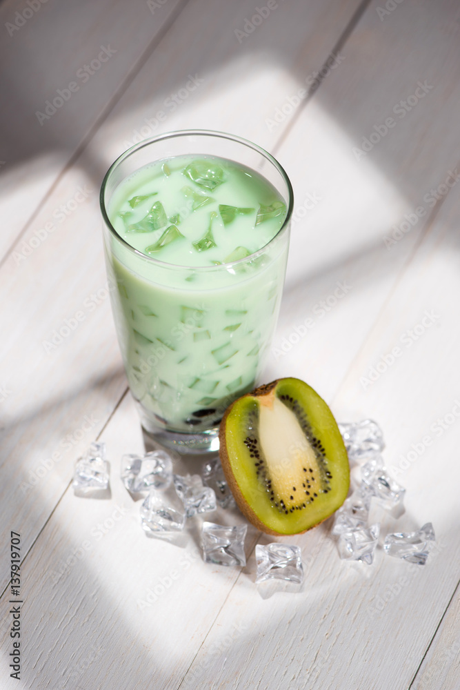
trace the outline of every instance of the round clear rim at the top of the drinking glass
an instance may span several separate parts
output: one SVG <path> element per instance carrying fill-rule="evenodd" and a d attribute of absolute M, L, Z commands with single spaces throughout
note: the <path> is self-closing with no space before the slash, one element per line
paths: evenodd
<path fill-rule="evenodd" d="M 155 257 L 150 257 L 146 254 L 143 254 L 139 249 L 135 249 L 132 247 L 128 242 L 126 242 L 126 239 L 123 239 L 119 233 L 117 233 L 117 230 L 115 230 L 114 226 L 112 226 L 112 223 L 108 217 L 107 209 L 106 209 L 106 201 L 105 201 L 105 194 L 106 194 L 106 188 L 108 185 L 108 181 L 110 179 L 110 176 L 112 175 L 112 172 L 116 170 L 116 168 L 123 163 L 130 155 L 132 155 L 134 152 L 140 150 L 141 148 L 144 148 L 145 146 L 149 146 L 150 144 L 154 144 L 155 141 L 161 141 L 162 139 L 173 139 L 177 137 L 190 137 L 190 136 L 208 136 L 208 137 L 217 137 L 219 139 L 228 139 L 229 141 L 236 141 L 238 144 L 243 144 L 244 146 L 247 146 L 248 148 L 252 148 L 252 150 L 257 151 L 260 155 L 262 155 L 264 158 L 268 159 L 270 163 L 277 168 L 278 172 L 281 174 L 281 177 L 283 178 L 283 181 L 285 182 L 287 188 L 288 188 L 288 208 L 286 211 L 286 217 L 283 220 L 283 224 L 281 225 L 281 228 L 279 228 L 278 232 L 276 235 L 270 239 L 267 244 L 264 244 L 263 247 L 258 249 L 257 251 L 253 252 L 252 254 L 248 255 L 247 257 L 243 257 L 243 259 L 237 259 L 237 261 L 234 262 L 228 262 L 226 264 L 222 263 L 217 266 L 182 266 L 181 264 L 170 264 L 168 262 L 161 261 L 160 259 L 157 259 Z M 152 161 L 155 162 L 155 161 Z M 223 270 L 223 268 L 228 269 L 229 267 L 231 268 L 232 266 L 237 266 L 239 264 L 245 264 L 250 262 L 252 259 L 257 258 L 261 253 L 263 253 L 272 242 L 274 242 L 275 239 L 278 239 L 281 235 L 283 235 L 284 231 L 286 228 L 288 228 L 288 225 L 290 223 L 290 219 L 292 216 L 292 210 L 294 208 L 294 191 L 292 190 L 292 184 L 290 183 L 290 179 L 286 173 L 286 170 L 284 170 L 283 166 L 277 161 L 276 158 L 274 158 L 268 151 L 266 151 L 264 148 L 261 148 L 261 146 L 257 146 L 257 144 L 254 144 L 252 141 L 249 141 L 249 139 L 243 139 L 243 137 L 238 137 L 237 135 L 231 135 L 228 134 L 227 132 L 218 132 L 214 130 L 176 130 L 174 132 L 165 132 L 164 134 L 157 135 L 155 137 L 149 137 L 148 139 L 143 139 L 142 141 L 139 141 L 138 144 L 134 144 L 133 146 L 130 146 L 126 151 L 123 151 L 121 155 L 117 159 L 115 159 L 108 168 L 106 175 L 103 177 L 103 181 L 101 184 L 101 191 L 99 193 L 99 205 L 101 208 L 101 214 L 102 214 L 102 219 L 108 230 L 110 230 L 110 234 L 114 237 L 114 239 L 117 240 L 117 242 L 120 242 L 123 246 L 125 246 L 132 255 L 137 256 L 147 262 L 151 262 L 152 265 L 156 265 L 162 268 L 168 268 L 170 269 L 179 269 L 179 270 L 194 270 L 194 271 L 199 271 L 200 273 L 203 271 L 214 271 L 214 270 Z"/>

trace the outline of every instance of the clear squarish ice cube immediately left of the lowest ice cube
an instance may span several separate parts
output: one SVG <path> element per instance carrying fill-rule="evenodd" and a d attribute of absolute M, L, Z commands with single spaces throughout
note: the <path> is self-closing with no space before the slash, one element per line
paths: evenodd
<path fill-rule="evenodd" d="M 246 565 L 244 540 L 248 526 L 226 527 L 214 522 L 203 522 L 201 544 L 203 560 L 218 565 Z"/>

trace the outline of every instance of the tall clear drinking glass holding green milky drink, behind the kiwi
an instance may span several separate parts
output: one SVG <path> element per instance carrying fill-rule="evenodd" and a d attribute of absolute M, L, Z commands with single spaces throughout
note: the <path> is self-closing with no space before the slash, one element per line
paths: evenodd
<path fill-rule="evenodd" d="M 201 163 L 194 165 L 195 158 Z M 188 161 L 192 164 L 187 167 Z M 202 172 L 203 161 L 210 172 Z M 171 175 L 178 166 L 185 166 L 185 172 L 180 173 L 184 184 L 181 213 L 161 220 L 166 200 L 157 191 L 152 192 L 150 201 L 146 194 L 131 191 L 127 196 L 126 190 L 134 190 L 136 180 L 144 179 L 139 177 L 142 171 L 151 169 L 153 177 L 153 171 L 161 175 L 158 170 Z M 235 170 L 240 177 L 257 178 L 282 202 L 260 206 L 259 199 L 254 198 L 253 204 L 246 203 L 243 208 L 220 204 L 216 206 L 219 211 L 208 213 L 208 234 L 193 244 L 193 262 L 179 265 L 160 258 L 164 251 L 158 247 L 171 242 L 171 251 L 172 240 L 185 242 L 181 229 L 187 217 L 190 224 L 195 208 L 204 213 L 201 206 L 210 204 L 206 211 L 212 209 L 217 194 L 214 185 L 231 179 L 237 174 Z M 160 183 L 166 181 L 162 178 Z M 223 184 L 221 189 L 225 189 Z M 133 212 L 123 214 L 119 204 L 130 194 Z M 169 225 L 167 230 L 151 233 L 156 244 L 142 250 L 130 242 L 134 235 L 148 237 L 146 219 L 128 224 L 124 236 L 117 226 L 120 217 L 126 220 L 134 214 L 138 203 L 151 207 L 146 218 L 153 218 L 157 227 L 161 223 L 165 226 L 165 221 Z M 108 278 L 114 286 L 114 322 L 141 424 L 161 444 L 185 453 L 217 450 L 224 411 L 257 383 L 279 313 L 292 203 L 292 187 L 279 163 L 250 141 L 222 132 L 188 130 L 147 139 L 123 153 L 109 168 L 101 187 L 101 211 Z M 239 244 L 220 262 L 210 262 L 210 252 L 195 256 L 194 250 L 201 252 L 219 244 L 214 239 L 216 231 L 212 235 L 212 222 L 220 224 L 220 236 L 227 241 L 244 215 L 249 217 L 253 212 L 252 231 L 260 233 L 263 226 L 259 223 L 270 214 L 277 215 L 281 207 L 279 228 L 257 250 L 249 253 Z M 203 265 L 196 265 L 198 259 Z"/>

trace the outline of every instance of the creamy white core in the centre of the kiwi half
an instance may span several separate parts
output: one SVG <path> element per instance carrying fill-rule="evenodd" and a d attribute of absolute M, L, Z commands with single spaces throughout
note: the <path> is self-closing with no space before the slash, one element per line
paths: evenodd
<path fill-rule="evenodd" d="M 259 408 L 259 442 L 272 489 L 286 506 L 308 502 L 302 482 L 306 471 L 319 477 L 317 457 L 296 415 L 277 397 L 270 402 Z"/>

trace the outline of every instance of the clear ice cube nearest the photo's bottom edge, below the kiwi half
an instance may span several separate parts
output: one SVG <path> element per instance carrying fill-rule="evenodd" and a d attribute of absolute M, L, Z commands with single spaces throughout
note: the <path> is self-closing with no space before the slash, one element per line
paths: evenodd
<path fill-rule="evenodd" d="M 257 576 L 256 582 L 264 580 L 288 580 L 303 582 L 303 565 L 299 546 L 273 542 L 256 546 Z"/>

